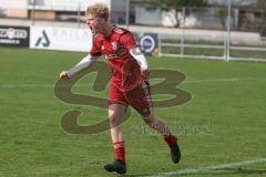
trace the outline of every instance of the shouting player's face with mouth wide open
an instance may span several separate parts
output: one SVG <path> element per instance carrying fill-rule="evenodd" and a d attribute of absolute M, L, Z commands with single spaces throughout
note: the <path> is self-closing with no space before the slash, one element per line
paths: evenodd
<path fill-rule="evenodd" d="M 89 28 L 91 29 L 94 35 L 104 31 L 103 23 L 104 23 L 103 18 L 98 18 L 98 17 L 94 17 L 93 14 L 86 15 L 86 24 L 89 25 Z"/>

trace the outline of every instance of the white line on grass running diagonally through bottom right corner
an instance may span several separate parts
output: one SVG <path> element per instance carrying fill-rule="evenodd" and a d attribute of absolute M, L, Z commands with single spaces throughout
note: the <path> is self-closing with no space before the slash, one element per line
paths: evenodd
<path fill-rule="evenodd" d="M 209 167 L 198 167 L 198 168 L 186 168 L 186 169 L 180 169 L 168 173 L 160 173 L 157 175 L 151 175 L 146 177 L 166 177 L 171 175 L 187 175 L 187 174 L 200 174 L 200 173 L 206 173 L 208 170 L 213 169 L 224 169 L 224 168 L 231 168 L 231 167 L 241 167 L 241 166 L 247 166 L 252 164 L 259 164 L 259 163 L 266 163 L 266 158 L 258 158 L 258 159 L 252 159 L 247 162 L 239 162 L 239 163 L 229 163 L 229 164 L 221 164 Z"/>

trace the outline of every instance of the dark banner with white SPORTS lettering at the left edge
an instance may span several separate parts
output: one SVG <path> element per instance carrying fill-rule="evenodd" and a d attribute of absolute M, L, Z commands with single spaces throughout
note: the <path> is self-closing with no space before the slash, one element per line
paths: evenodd
<path fill-rule="evenodd" d="M 0 25 L 0 46 L 29 48 L 30 28 Z"/>

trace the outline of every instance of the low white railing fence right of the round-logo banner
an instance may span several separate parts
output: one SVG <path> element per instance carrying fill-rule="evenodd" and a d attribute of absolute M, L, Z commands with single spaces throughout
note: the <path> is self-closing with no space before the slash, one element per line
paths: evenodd
<path fill-rule="evenodd" d="M 263 44 L 241 43 L 237 39 L 200 40 L 198 35 L 158 35 L 158 55 L 172 58 L 213 59 L 224 61 L 259 61 L 266 62 L 266 42 Z M 246 38 L 243 35 L 242 38 Z M 239 39 L 243 40 L 243 39 Z"/>

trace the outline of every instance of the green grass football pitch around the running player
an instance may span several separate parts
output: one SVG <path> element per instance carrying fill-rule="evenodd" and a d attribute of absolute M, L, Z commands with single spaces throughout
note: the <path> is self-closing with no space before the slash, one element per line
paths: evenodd
<path fill-rule="evenodd" d="M 102 167 L 114 158 L 109 132 L 74 135 L 60 124 L 61 116 L 71 110 L 82 111 L 81 125 L 106 117 L 106 108 L 71 105 L 54 96 L 59 73 L 84 54 L 0 49 L 0 177 L 116 176 Z M 192 100 L 155 111 L 173 129 L 181 127 L 175 134 L 183 156 L 180 164 L 172 164 L 162 137 L 147 131 L 133 112 L 123 124 L 129 176 L 266 158 L 265 63 L 173 58 L 149 58 L 149 63 L 151 69 L 186 75 L 177 87 L 190 92 Z M 94 77 L 86 75 L 73 91 L 106 97 L 106 91 L 92 91 Z M 260 163 L 182 176 L 254 177 L 266 176 L 265 169 L 266 163 Z"/>

